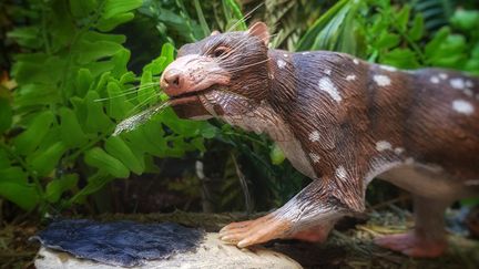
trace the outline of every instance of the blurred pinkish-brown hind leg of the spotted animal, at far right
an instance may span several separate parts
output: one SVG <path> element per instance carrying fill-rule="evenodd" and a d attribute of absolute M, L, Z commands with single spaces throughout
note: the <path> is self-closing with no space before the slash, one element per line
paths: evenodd
<path fill-rule="evenodd" d="M 414 230 L 376 238 L 384 248 L 410 257 L 434 258 L 447 248 L 444 214 L 450 201 L 414 196 L 416 225 Z"/>

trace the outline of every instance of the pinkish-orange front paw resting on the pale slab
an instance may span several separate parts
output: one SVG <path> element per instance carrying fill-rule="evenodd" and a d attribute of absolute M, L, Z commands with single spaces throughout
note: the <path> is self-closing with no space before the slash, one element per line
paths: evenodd
<path fill-rule="evenodd" d="M 293 224 L 291 220 L 268 214 L 264 217 L 232 223 L 220 230 L 220 239 L 244 248 L 286 237 Z"/>

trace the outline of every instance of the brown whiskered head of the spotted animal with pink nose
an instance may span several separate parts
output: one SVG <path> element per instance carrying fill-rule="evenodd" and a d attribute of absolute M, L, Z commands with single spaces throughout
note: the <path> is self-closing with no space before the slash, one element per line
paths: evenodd
<path fill-rule="evenodd" d="M 267 97 L 269 33 L 263 22 L 183 45 L 161 87 L 181 117 L 241 115 Z"/>

